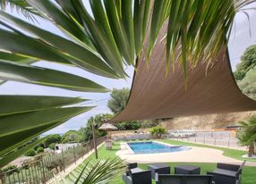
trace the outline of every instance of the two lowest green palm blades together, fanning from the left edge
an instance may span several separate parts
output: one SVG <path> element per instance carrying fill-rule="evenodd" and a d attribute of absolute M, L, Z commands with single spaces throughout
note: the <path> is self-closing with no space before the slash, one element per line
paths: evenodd
<path fill-rule="evenodd" d="M 61 96 L 0 96 L 0 157 L 73 116 L 89 111 L 91 107 L 62 107 L 83 101 Z"/>

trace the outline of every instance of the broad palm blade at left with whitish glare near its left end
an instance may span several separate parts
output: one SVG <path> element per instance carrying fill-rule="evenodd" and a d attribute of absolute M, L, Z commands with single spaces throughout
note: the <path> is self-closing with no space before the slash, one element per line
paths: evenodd
<path fill-rule="evenodd" d="M 15 80 L 50 87 L 66 88 L 75 91 L 107 92 L 90 79 L 28 64 L 5 62 L 0 60 L 0 79 Z"/>

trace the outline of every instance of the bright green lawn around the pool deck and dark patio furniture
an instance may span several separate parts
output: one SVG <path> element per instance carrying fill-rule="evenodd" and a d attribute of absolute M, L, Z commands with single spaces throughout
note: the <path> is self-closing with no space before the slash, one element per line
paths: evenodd
<path fill-rule="evenodd" d="M 222 147 L 216 147 L 216 146 L 202 146 L 199 144 L 192 144 L 192 143 L 184 143 L 182 141 L 176 141 L 176 140 L 169 140 L 164 139 L 161 140 L 166 143 L 170 143 L 173 145 L 186 145 L 186 146 L 201 146 L 201 147 L 211 147 L 211 148 L 217 148 L 224 151 L 224 155 L 230 156 L 233 158 L 239 158 L 239 155 L 243 155 L 243 151 L 235 150 L 235 149 L 228 149 L 228 148 L 222 148 Z M 120 144 L 118 142 L 115 143 L 112 150 L 106 150 L 104 146 L 99 147 L 98 149 L 98 157 L 107 159 L 107 158 L 115 158 L 115 152 L 120 149 Z M 243 153 L 241 153 L 243 152 Z M 90 155 L 90 159 L 94 160 L 95 155 Z M 88 159 L 87 159 L 88 160 Z M 174 173 L 174 167 L 178 164 L 192 164 L 197 165 L 201 167 L 201 174 L 205 174 L 206 171 L 213 171 L 216 168 L 216 163 L 169 163 L 171 166 L 171 172 Z M 148 164 L 139 164 L 139 167 L 141 169 L 146 170 L 148 167 Z M 245 166 L 243 169 L 243 180 L 242 184 L 254 184 L 256 180 L 256 167 L 249 167 Z M 153 182 L 154 183 L 154 182 Z M 110 182 L 110 184 L 124 184 L 124 182 L 121 179 L 121 176 L 116 177 L 115 180 Z"/>

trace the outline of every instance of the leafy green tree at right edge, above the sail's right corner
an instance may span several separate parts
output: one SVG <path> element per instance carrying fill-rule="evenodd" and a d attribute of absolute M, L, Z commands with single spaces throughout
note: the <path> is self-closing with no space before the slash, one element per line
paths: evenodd
<path fill-rule="evenodd" d="M 243 80 L 247 72 L 255 70 L 256 67 L 256 45 L 249 46 L 241 57 L 241 63 L 236 66 L 234 76 L 236 80 Z"/>

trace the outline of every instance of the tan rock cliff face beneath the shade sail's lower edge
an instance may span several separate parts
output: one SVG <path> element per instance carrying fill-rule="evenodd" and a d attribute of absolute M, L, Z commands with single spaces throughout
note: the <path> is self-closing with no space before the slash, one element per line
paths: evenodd
<path fill-rule="evenodd" d="M 162 121 L 161 125 L 168 130 L 213 130 L 225 129 L 228 125 L 238 125 L 238 121 L 244 121 L 250 118 L 254 112 L 243 113 L 218 113 L 201 116 L 190 116 L 174 118 L 168 121 Z"/>

